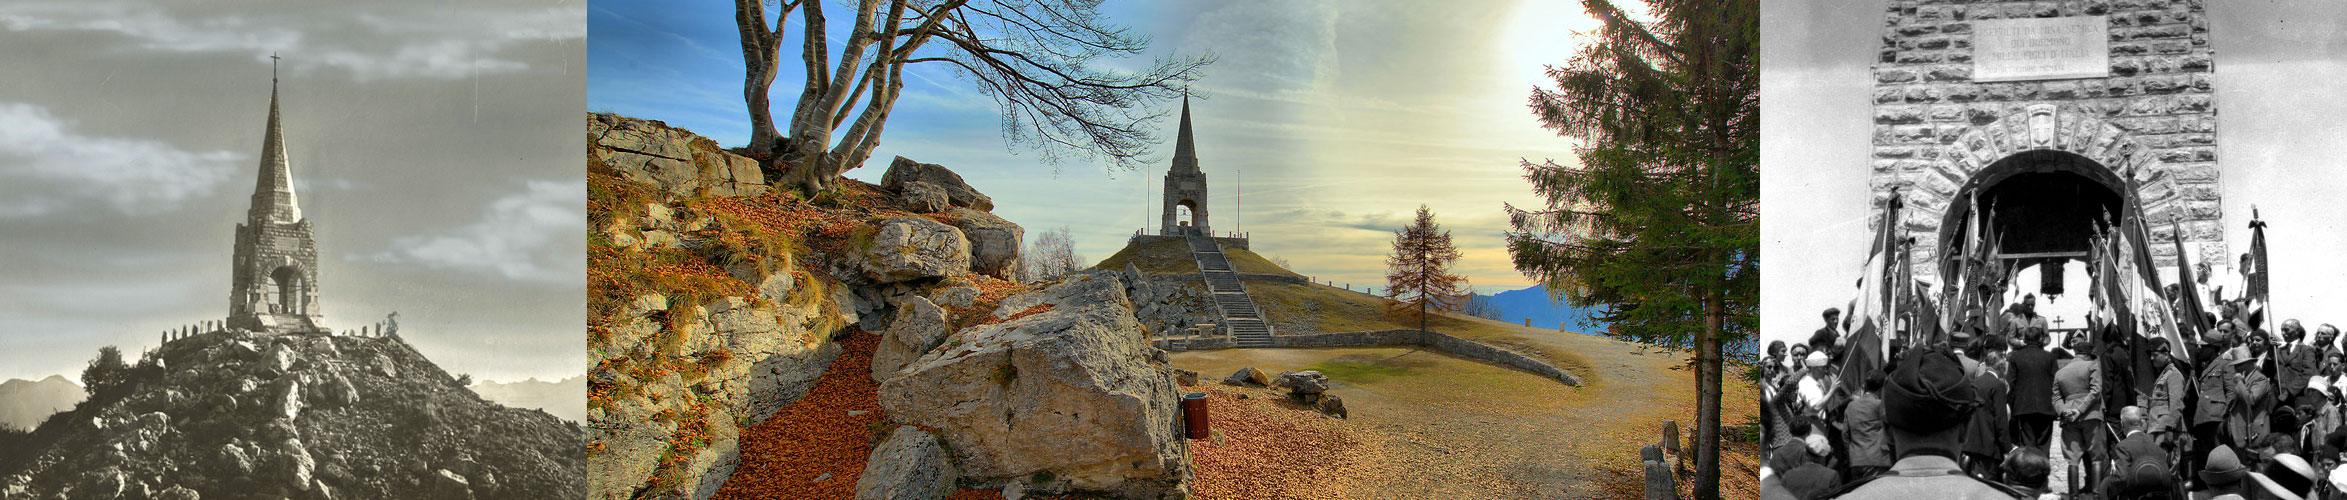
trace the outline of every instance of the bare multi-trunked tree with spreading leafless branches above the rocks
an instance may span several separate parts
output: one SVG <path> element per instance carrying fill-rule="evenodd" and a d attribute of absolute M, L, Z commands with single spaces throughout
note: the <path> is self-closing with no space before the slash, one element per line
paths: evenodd
<path fill-rule="evenodd" d="M 1098 155 L 1134 169 L 1155 143 L 1150 122 L 1197 80 L 1211 56 L 1159 59 L 1148 70 L 1094 68 L 1101 56 L 1148 49 L 1101 16 L 1098 0 L 857 0 L 854 28 L 831 52 L 821 0 L 735 0 L 742 31 L 744 101 L 751 150 L 782 169 L 777 185 L 819 192 L 880 146 L 880 131 L 904 89 L 904 66 L 943 63 L 960 70 L 1002 110 L 1002 136 L 1035 146 L 1047 162 L 1061 150 Z M 805 89 L 791 113 L 789 136 L 777 134 L 767 87 L 782 61 L 782 35 L 798 14 Z M 932 45 L 934 42 L 934 45 Z M 838 59 L 833 63 L 833 59 Z M 857 106 L 861 103 L 861 108 Z M 845 129 L 843 129 L 845 124 Z"/>

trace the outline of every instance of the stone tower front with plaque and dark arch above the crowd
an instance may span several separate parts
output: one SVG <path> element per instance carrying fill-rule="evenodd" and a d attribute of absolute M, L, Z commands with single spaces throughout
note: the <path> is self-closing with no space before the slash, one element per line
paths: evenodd
<path fill-rule="evenodd" d="M 2140 216 L 2223 263 L 2201 2 L 1889 2 L 1873 66 L 1873 216 L 1892 192 L 1915 277 L 1955 272 L 1969 221 L 1997 261 L 2058 270 Z M 2171 244 L 2152 244 L 2176 265 Z M 2058 282 L 2058 279 L 2056 279 Z"/>

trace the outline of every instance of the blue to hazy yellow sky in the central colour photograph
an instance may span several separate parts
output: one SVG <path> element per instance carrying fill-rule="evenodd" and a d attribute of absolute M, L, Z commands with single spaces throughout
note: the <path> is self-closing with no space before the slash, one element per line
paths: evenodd
<path fill-rule="evenodd" d="M 1479 291 L 1530 284 L 1502 249 L 1500 204 L 1537 204 L 1521 157 L 1570 157 L 1570 143 L 1540 129 L 1526 99 L 1542 63 L 1575 52 L 1572 31 L 1594 28 L 1577 2 L 1112 0 L 1105 12 L 1155 40 L 1148 56 L 1122 66 L 1218 56 L 1192 101 L 1213 230 L 1246 230 L 1258 254 L 1317 279 L 1382 286 L 1392 232 L 1429 204 Z M 843 14 L 833 19 L 843 23 Z M 596 0 L 587 23 L 589 110 L 664 120 L 723 146 L 749 141 L 730 5 Z M 798 35 L 796 23 L 789 35 Z M 800 87 L 796 49 L 786 59 L 775 82 L 779 117 L 791 106 L 784 96 Z M 1143 171 L 1082 157 L 1044 164 L 1005 146 L 993 103 L 946 66 L 906 75 L 887 138 L 850 178 L 878 181 L 897 155 L 946 164 L 1030 235 L 1073 228 L 1089 261 L 1122 249 L 1143 223 L 1155 230 L 1171 113 L 1159 124 L 1157 162 Z"/>

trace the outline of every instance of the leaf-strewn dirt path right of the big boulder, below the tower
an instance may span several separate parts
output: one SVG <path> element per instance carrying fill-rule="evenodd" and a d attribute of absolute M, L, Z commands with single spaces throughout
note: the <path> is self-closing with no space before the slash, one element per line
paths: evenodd
<path fill-rule="evenodd" d="M 1242 366 L 1328 373 L 1331 392 L 1345 397 L 1352 411 L 1350 420 L 1331 423 L 1359 437 L 1359 453 L 1368 455 L 1361 474 L 1328 477 L 1328 498 L 1636 493 L 1638 479 L 1631 472 L 1638 469 L 1638 446 L 1662 437 L 1662 420 L 1690 423 L 1695 413 L 1692 378 L 1669 369 L 1673 359 L 1678 357 L 1662 352 L 1594 357 L 1591 362 L 1619 364 L 1619 373 L 1589 387 L 1565 387 L 1533 373 L 1411 347 L 1174 354 L 1178 369 L 1199 371 L 1209 380 Z M 1277 397 L 1272 390 L 1256 392 Z M 1291 415 L 1319 418 L 1300 408 Z M 1199 465 L 1202 488 L 1218 479 L 1251 481 L 1216 477 L 1209 467 L 1213 465 Z M 1723 491 L 1739 498 L 1737 488 Z"/>

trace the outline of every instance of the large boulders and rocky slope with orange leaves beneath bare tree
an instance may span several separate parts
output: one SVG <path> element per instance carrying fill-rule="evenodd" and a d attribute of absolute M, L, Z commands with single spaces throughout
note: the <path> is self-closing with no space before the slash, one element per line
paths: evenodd
<path fill-rule="evenodd" d="M 960 174 L 803 197 L 662 122 L 587 143 L 591 498 L 1183 495 L 1136 289 L 1009 282 L 1023 230 Z"/>

